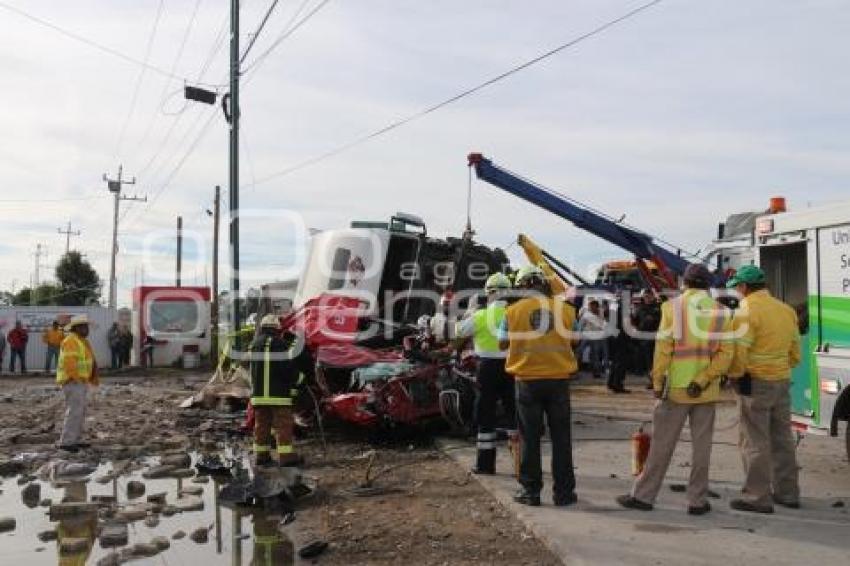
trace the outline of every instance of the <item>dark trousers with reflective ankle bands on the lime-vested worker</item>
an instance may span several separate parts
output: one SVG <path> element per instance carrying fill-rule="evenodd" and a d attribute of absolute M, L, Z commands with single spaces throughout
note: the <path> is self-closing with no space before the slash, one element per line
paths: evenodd
<path fill-rule="evenodd" d="M 505 372 L 504 358 L 480 358 L 478 386 L 475 400 L 475 422 L 478 424 L 476 468 L 492 473 L 496 467 L 496 409 L 500 400 L 511 423 L 510 428 L 516 426 L 514 380 Z"/>

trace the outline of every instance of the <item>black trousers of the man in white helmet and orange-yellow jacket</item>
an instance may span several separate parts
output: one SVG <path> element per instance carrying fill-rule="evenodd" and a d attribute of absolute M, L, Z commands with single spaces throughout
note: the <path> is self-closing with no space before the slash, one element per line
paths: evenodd
<path fill-rule="evenodd" d="M 540 437 L 543 415 L 552 440 L 552 478 L 555 496 L 569 496 L 575 491 L 573 445 L 570 434 L 570 384 L 567 379 L 523 381 L 517 376 L 517 417 L 522 437 L 519 482 L 532 492 L 543 488 Z"/>

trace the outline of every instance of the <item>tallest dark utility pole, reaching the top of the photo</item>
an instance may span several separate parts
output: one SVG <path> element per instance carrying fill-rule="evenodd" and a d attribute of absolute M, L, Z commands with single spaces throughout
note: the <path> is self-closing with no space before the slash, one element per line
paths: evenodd
<path fill-rule="evenodd" d="M 230 0 L 230 294 L 239 351 L 239 0 Z"/>

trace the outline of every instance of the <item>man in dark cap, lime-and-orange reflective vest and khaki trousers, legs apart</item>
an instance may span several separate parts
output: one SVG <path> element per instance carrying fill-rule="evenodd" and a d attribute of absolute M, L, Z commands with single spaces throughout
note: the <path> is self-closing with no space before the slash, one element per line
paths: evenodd
<path fill-rule="evenodd" d="M 687 419 L 691 429 L 688 513 L 711 511 L 708 470 L 720 379 L 732 362 L 732 316 L 708 294 L 711 274 L 701 264 L 685 270 L 682 294 L 661 308 L 652 384 L 659 399 L 652 414 L 652 444 L 646 467 L 632 492 L 617 502 L 629 509 L 652 510 Z"/>

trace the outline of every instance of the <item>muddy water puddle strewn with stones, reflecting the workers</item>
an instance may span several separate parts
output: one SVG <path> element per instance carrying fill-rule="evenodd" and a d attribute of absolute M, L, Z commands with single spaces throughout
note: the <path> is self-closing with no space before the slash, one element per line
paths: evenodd
<path fill-rule="evenodd" d="M 192 453 L 192 464 L 198 460 L 199 455 Z M 209 477 L 205 483 L 198 478 L 162 478 L 146 479 L 142 472 L 148 469 L 154 459 L 143 460 L 146 464 L 139 469 L 128 471 L 117 479 L 107 483 L 99 483 L 97 478 L 102 478 L 113 469 L 112 463 L 101 464 L 91 474 L 88 481 L 42 481 L 36 479 L 33 482 L 19 485 L 20 476 L 2 479 L 0 484 L 0 518 L 14 518 L 16 527 L 14 531 L 0 534 L 0 564 L 25 564 L 26 566 L 40 566 L 47 564 L 96 564 L 105 559 L 111 553 L 120 554 L 122 548 L 132 547 L 141 543 L 150 545 L 154 543 L 165 546 L 163 539 L 167 541 L 168 548 L 158 551 L 154 556 L 140 556 L 131 559 L 135 564 L 297 564 L 294 558 L 294 548 L 298 548 L 298 534 L 296 525 L 281 526 L 285 512 L 274 513 L 265 510 L 254 510 L 251 508 L 233 508 L 225 506 L 219 501 L 219 495 L 224 487 L 221 481 Z M 141 482 L 144 484 L 144 494 L 137 497 L 128 496 L 128 484 L 130 482 Z M 37 488 L 27 487 L 38 484 Z M 134 485 L 133 487 L 138 487 Z M 54 504 L 60 502 L 97 502 L 104 498 L 115 498 L 117 509 L 134 506 L 144 506 L 148 502 L 148 496 L 165 494 L 166 505 L 197 508 L 199 510 L 186 510 L 174 515 L 167 516 L 166 513 L 147 513 L 142 518 L 127 523 L 127 543 L 118 548 L 104 548 L 103 543 L 108 544 L 108 537 L 98 538 L 98 531 L 104 525 L 114 523 L 114 519 L 105 516 L 105 510 L 109 504 L 101 504 L 98 512 L 95 509 L 82 515 L 67 517 L 50 517 L 50 507 L 46 500 Z M 161 500 L 160 500 L 161 501 Z M 91 506 L 89 506 L 90 508 Z M 68 509 L 67 507 L 65 508 Z M 100 517 L 98 517 L 98 514 Z M 155 516 L 156 519 L 149 517 Z M 120 514 L 119 514 L 120 517 Z M 291 517 L 290 517 L 291 518 Z M 117 536 L 121 538 L 122 528 L 118 527 Z M 190 535 L 195 531 L 206 530 L 208 540 L 206 542 L 195 542 Z M 44 534 L 49 531 L 53 535 Z M 110 533 L 112 534 L 112 531 Z M 175 533 L 182 531 L 185 536 L 174 538 Z M 39 535 L 46 541 L 39 539 Z M 200 535 L 198 535 L 200 536 Z M 161 537 L 157 539 L 156 537 Z M 150 546 L 142 546 L 140 551 L 153 550 Z M 114 562 L 117 564 L 118 562 Z"/>

